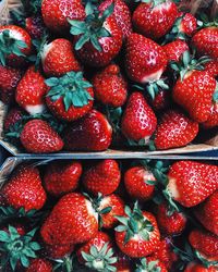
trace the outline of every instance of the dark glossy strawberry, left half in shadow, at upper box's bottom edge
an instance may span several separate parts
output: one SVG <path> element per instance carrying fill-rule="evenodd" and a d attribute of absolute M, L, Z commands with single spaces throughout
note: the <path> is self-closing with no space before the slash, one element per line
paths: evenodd
<path fill-rule="evenodd" d="M 74 122 L 64 132 L 66 150 L 106 150 L 111 144 L 112 127 L 105 115 L 96 110 Z"/>

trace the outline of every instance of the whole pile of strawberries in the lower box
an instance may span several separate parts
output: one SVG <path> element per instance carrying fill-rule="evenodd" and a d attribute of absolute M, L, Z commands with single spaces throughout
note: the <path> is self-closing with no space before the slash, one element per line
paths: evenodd
<path fill-rule="evenodd" d="M 0 200 L 3 272 L 218 271 L 211 163 L 20 164 Z"/>

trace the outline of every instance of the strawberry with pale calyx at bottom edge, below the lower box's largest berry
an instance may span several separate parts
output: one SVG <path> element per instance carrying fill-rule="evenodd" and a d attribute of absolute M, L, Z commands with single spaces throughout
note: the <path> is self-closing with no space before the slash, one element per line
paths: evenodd
<path fill-rule="evenodd" d="M 113 254 L 112 242 L 106 233 L 98 232 L 95 237 L 78 248 L 76 255 L 80 262 L 90 270 L 116 271 L 113 264 L 117 258 Z"/>

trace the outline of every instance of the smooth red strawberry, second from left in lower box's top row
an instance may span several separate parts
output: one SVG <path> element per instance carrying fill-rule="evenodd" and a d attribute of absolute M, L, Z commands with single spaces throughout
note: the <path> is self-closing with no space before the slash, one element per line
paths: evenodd
<path fill-rule="evenodd" d="M 53 162 L 49 164 L 44 175 L 44 185 L 48 193 L 60 197 L 73 191 L 78 186 L 82 164 L 76 161 L 70 163 Z"/>

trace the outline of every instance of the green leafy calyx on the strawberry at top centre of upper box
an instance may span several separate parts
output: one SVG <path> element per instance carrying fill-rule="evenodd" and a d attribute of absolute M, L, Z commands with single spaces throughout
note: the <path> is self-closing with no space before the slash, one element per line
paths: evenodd
<path fill-rule="evenodd" d="M 102 50 L 99 39 L 110 37 L 110 33 L 105 28 L 104 23 L 112 14 L 114 4 L 112 3 L 100 14 L 100 12 L 88 2 L 85 8 L 85 21 L 69 20 L 71 24 L 70 33 L 74 36 L 80 35 L 80 39 L 75 44 L 75 50 L 80 50 L 86 42 L 90 42 L 98 51 Z"/>

